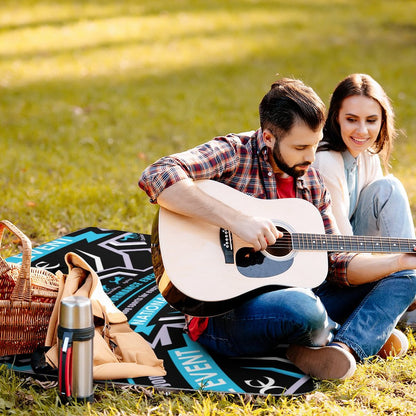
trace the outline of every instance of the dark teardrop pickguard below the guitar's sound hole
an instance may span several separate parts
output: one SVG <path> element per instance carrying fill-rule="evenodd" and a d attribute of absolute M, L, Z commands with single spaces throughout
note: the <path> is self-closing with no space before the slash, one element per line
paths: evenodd
<path fill-rule="evenodd" d="M 254 278 L 278 276 L 289 270 L 293 264 L 293 257 L 273 260 L 250 247 L 240 248 L 235 260 L 237 269 L 243 276 Z"/>

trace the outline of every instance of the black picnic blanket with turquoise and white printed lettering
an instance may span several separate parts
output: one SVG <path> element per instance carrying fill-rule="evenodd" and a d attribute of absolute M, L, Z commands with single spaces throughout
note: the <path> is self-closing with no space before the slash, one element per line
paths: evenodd
<path fill-rule="evenodd" d="M 214 355 L 184 332 L 184 317 L 160 294 L 155 283 L 150 235 L 88 227 L 32 250 L 32 265 L 67 273 L 64 256 L 74 252 L 98 274 L 104 291 L 128 317 L 131 328 L 164 360 L 166 376 L 113 380 L 115 384 L 162 391 L 209 391 L 253 395 L 299 395 L 314 390 L 313 380 L 281 354 L 274 357 L 226 358 Z M 19 263 L 21 256 L 7 261 Z M 0 357 L 17 373 L 35 373 L 30 355 Z M 56 377 L 56 376 L 55 376 Z"/>

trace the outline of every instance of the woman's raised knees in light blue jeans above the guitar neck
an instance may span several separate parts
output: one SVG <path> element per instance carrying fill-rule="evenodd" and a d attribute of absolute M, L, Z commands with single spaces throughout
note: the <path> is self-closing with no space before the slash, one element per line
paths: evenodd
<path fill-rule="evenodd" d="M 393 175 L 361 191 L 350 222 L 354 235 L 415 238 L 406 191 Z"/>

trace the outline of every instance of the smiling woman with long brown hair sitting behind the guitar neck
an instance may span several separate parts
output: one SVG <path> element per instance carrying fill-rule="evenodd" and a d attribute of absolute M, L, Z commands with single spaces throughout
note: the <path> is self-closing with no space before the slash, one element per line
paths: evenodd
<path fill-rule="evenodd" d="M 337 85 L 314 166 L 341 234 L 415 238 L 406 192 L 380 163 L 387 171 L 396 135 L 390 100 L 371 76 L 352 74 Z"/>

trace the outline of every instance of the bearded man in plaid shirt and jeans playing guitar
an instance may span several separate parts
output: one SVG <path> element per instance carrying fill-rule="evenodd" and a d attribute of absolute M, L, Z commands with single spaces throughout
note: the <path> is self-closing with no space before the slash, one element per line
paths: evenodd
<path fill-rule="evenodd" d="M 310 166 L 322 138 L 321 99 L 301 81 L 285 78 L 271 86 L 259 112 L 257 131 L 217 137 L 161 158 L 143 172 L 140 187 L 151 202 L 228 229 L 255 250 L 281 237 L 272 221 L 225 205 L 195 180 L 213 179 L 261 199 L 306 199 L 320 211 L 325 232 L 337 233 L 328 192 Z M 264 293 L 221 316 L 189 318 L 190 337 L 228 356 L 271 354 L 287 343 L 288 358 L 305 373 L 350 377 L 356 360 L 380 350 L 412 302 L 416 276 L 407 269 L 416 268 L 416 256 L 330 253 L 328 259 L 319 296 L 302 288 Z M 328 316 L 326 304 L 336 319 Z"/>

